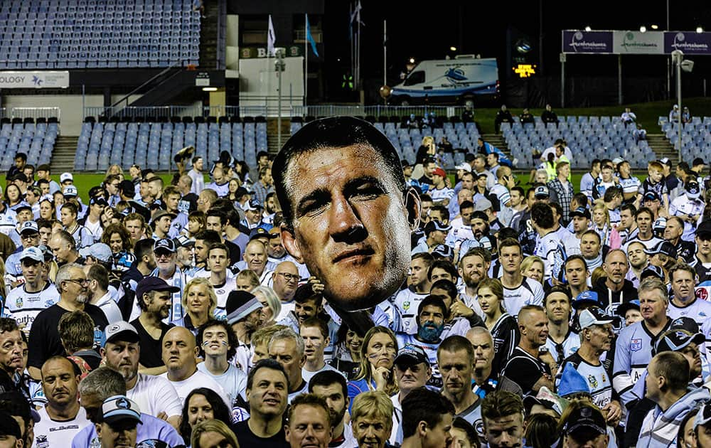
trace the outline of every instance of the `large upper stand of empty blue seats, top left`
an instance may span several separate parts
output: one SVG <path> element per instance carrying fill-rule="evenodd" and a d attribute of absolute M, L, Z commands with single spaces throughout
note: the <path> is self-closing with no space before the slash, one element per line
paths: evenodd
<path fill-rule="evenodd" d="M 198 65 L 192 0 L 0 1 L 0 69 Z"/>

